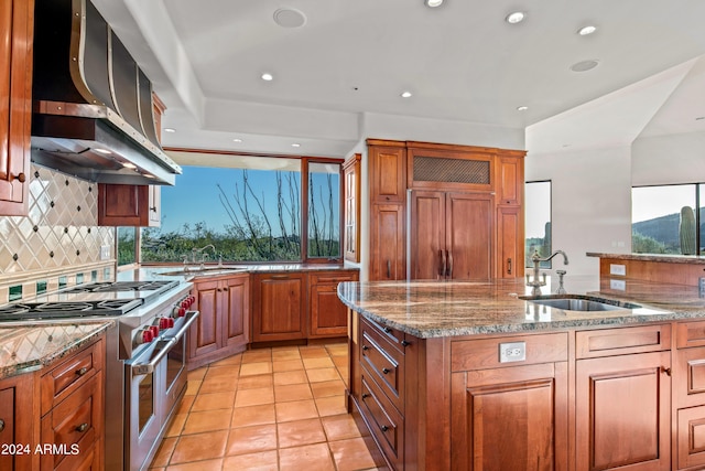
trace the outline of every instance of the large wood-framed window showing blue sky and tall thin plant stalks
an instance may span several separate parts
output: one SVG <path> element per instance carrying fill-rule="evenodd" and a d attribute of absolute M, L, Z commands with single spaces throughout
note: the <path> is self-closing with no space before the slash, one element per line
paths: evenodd
<path fill-rule="evenodd" d="M 227 157 L 227 167 L 184 165 L 162 188 L 161 227 L 142 229 L 142 261 L 183 261 L 209 244 L 205 261 L 340 257 L 340 162 Z"/>

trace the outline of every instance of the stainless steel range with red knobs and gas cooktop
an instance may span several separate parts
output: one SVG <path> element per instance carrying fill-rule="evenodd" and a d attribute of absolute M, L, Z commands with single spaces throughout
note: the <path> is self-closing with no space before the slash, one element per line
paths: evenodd
<path fill-rule="evenodd" d="M 147 469 L 186 392 L 192 283 L 79 285 L 0 308 L 0 322 L 113 319 L 106 339 L 106 470 Z"/>

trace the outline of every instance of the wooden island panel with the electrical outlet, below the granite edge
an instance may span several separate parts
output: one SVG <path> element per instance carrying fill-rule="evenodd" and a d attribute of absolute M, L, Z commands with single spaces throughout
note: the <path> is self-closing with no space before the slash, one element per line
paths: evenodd
<path fill-rule="evenodd" d="M 501 352 L 511 349 L 520 352 L 516 360 Z M 501 336 L 495 339 L 477 339 L 453 342 L 451 345 L 451 371 L 464 372 L 503 366 L 531 365 L 538 363 L 565 362 L 568 358 L 567 333 L 550 333 L 538 335 Z"/>

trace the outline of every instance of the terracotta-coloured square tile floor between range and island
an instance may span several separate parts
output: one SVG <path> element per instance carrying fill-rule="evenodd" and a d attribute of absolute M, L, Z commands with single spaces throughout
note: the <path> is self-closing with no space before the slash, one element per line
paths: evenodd
<path fill-rule="evenodd" d="M 250 350 L 194 370 L 151 469 L 387 470 L 346 413 L 344 377 L 345 343 Z"/>

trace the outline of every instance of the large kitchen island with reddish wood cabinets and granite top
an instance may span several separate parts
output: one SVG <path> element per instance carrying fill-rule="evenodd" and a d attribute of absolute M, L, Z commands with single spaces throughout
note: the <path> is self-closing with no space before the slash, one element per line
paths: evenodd
<path fill-rule="evenodd" d="M 341 283 L 349 411 L 395 470 L 702 470 L 705 299 L 627 283 Z"/>

